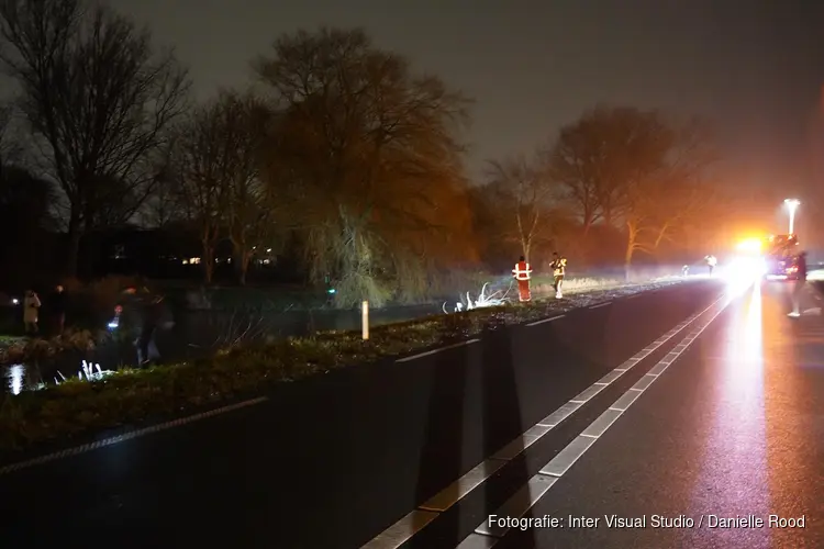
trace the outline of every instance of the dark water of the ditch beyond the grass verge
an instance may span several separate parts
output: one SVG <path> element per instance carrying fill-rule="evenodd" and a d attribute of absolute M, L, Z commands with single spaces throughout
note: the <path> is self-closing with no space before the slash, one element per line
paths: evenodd
<path fill-rule="evenodd" d="M 441 305 L 396 306 L 369 312 L 369 325 L 379 326 L 439 314 Z M 163 361 L 179 361 L 209 356 L 221 347 L 272 337 L 307 336 L 330 329 L 361 329 L 360 311 L 288 311 L 282 313 L 232 313 L 220 311 L 172 310 L 174 326 L 158 329 L 157 350 Z M 118 328 L 121 329 L 121 328 Z M 126 329 L 125 327 L 122 329 Z M 90 351 L 70 351 L 47 360 L 3 367 L 0 392 L 19 393 L 40 383 L 77 378 L 82 360 L 116 370 L 137 362 L 133 344 L 136 332 L 116 334 L 112 340 Z"/>

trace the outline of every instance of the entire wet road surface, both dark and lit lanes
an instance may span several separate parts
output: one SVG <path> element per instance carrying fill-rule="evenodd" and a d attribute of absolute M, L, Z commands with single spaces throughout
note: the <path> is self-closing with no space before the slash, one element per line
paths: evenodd
<path fill-rule="evenodd" d="M 495 509 L 510 501 L 512 516 L 806 513 L 803 537 L 786 536 L 787 547 L 810 546 L 821 539 L 811 537 L 816 507 L 810 494 L 823 486 L 815 484 L 821 475 L 810 478 L 819 472 L 810 456 L 820 450 L 802 434 L 822 429 L 815 425 L 821 401 L 812 396 L 821 374 L 810 366 L 824 358 L 814 354 L 815 338 L 824 339 L 815 335 L 821 317 L 787 318 L 784 287 L 765 287 L 758 293 L 762 349 L 754 354 L 754 298 L 722 309 L 727 289 L 695 282 L 492 330 L 444 352 L 285 386 L 260 404 L 0 473 L 0 494 L 12 503 L 0 518 L 0 539 L 14 548 L 404 541 L 454 548 L 461 540 L 465 547 L 713 547 L 709 530 L 667 538 L 675 530 L 614 530 L 603 518 L 589 529 L 485 528 L 486 517 L 504 516 Z M 757 368 L 739 376 L 747 384 L 720 381 L 727 362 L 738 363 L 725 358 L 738 340 L 750 349 L 739 354 L 744 362 L 776 365 L 761 368 L 760 393 L 750 379 Z M 672 363 L 666 372 L 656 366 L 661 360 Z M 635 391 L 637 402 L 613 404 L 645 385 L 655 368 L 660 380 Z M 768 404 L 748 415 L 757 402 Z M 601 434 L 611 406 L 626 411 L 608 417 L 615 423 Z M 581 448 L 582 438 L 593 442 L 579 460 L 561 452 Z M 555 456 L 554 469 L 535 477 Z M 527 481 L 533 489 L 553 483 L 531 512 L 528 493 L 519 492 Z M 730 531 L 734 537 L 717 538 L 719 547 L 736 539 L 769 547 L 765 530 L 749 538 Z M 690 533 L 698 537 L 683 537 Z"/>

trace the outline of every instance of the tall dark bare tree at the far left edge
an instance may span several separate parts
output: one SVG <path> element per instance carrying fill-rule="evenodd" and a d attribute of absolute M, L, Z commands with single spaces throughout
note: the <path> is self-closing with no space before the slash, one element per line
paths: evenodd
<path fill-rule="evenodd" d="M 147 31 L 105 8 L 87 16 L 78 0 L 2 0 L 0 34 L 22 112 L 69 204 L 74 274 L 82 235 L 129 220 L 148 197 L 155 155 L 185 108 L 186 72 L 171 54 L 154 55 Z"/>

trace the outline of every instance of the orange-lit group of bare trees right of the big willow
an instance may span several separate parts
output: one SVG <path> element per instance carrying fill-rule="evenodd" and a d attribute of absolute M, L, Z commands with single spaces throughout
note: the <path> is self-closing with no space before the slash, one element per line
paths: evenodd
<path fill-rule="evenodd" d="M 505 204 L 509 219 L 500 232 L 524 256 L 536 244 L 555 244 L 570 226 L 584 249 L 600 224 L 623 229 L 628 270 L 636 251 L 655 255 L 664 244 L 713 228 L 719 190 L 711 143 L 697 121 L 597 108 L 531 158 L 490 163 L 485 194 L 490 204 Z"/>

